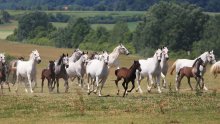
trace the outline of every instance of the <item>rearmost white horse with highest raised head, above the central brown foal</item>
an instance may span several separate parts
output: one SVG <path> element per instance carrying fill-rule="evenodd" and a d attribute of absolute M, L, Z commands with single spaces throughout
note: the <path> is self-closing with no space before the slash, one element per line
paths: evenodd
<path fill-rule="evenodd" d="M 129 51 L 122 44 L 119 44 L 117 47 L 115 47 L 113 52 L 109 54 L 109 67 L 116 67 L 119 69 L 120 63 L 118 57 L 120 54 L 129 55 Z"/>

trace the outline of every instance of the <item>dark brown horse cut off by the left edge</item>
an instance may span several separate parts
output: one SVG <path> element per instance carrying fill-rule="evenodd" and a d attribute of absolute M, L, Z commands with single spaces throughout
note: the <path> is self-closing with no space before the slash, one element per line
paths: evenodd
<path fill-rule="evenodd" d="M 1 84 L 1 90 L 3 94 L 3 84 L 6 83 L 8 85 L 8 90 L 10 90 L 9 82 L 6 81 L 7 79 L 7 73 L 8 73 L 8 66 L 6 63 L 0 62 L 0 84 Z"/>

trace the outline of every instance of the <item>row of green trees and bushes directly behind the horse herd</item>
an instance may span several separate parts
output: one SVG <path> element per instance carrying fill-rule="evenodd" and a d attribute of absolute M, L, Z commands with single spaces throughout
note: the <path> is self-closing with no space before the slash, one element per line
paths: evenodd
<path fill-rule="evenodd" d="M 146 12 L 134 32 L 123 20 L 108 31 L 104 27 L 92 29 L 83 18 L 56 29 L 43 12 L 29 13 L 18 24 L 9 40 L 89 50 L 112 50 L 115 44 L 123 43 L 144 56 L 151 56 L 160 46 L 167 46 L 171 55 L 178 57 L 191 51 L 193 58 L 211 49 L 220 55 L 220 15 L 207 15 L 192 4 L 159 2 Z"/>

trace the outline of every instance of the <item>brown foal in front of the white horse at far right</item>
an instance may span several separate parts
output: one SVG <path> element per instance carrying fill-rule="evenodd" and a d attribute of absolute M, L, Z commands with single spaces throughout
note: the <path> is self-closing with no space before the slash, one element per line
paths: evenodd
<path fill-rule="evenodd" d="M 194 62 L 192 67 L 183 67 L 180 69 L 179 73 L 178 73 L 178 77 L 177 77 L 177 89 L 179 90 L 180 88 L 180 82 L 182 80 L 182 78 L 184 76 L 187 77 L 188 79 L 188 84 L 191 88 L 191 90 L 193 90 L 191 83 L 190 83 L 190 78 L 194 77 L 196 79 L 196 88 L 199 85 L 200 89 L 203 88 L 204 84 L 202 83 L 202 86 L 200 85 L 200 81 L 203 82 L 203 70 L 200 69 L 200 66 L 204 66 L 204 62 L 201 58 L 196 59 L 196 61 Z"/>

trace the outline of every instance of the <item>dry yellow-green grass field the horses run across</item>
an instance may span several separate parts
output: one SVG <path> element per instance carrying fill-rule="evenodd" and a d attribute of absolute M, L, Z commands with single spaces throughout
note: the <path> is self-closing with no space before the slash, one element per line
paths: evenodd
<path fill-rule="evenodd" d="M 104 97 L 97 94 L 87 95 L 85 89 L 79 88 L 76 82 L 69 82 L 69 93 L 64 93 L 63 81 L 60 82 L 60 94 L 49 93 L 45 83 L 44 93 L 40 93 L 40 72 L 49 60 L 57 59 L 62 53 L 71 54 L 73 49 L 58 49 L 46 46 L 19 44 L 0 40 L 0 52 L 12 56 L 28 58 L 31 50 L 37 49 L 42 63 L 37 65 L 38 87 L 35 93 L 25 93 L 24 86 L 15 93 L 15 86 L 8 92 L 4 86 L 4 94 L 0 95 L 1 123 L 211 123 L 220 122 L 220 84 L 207 71 L 205 82 L 209 91 L 198 93 L 190 91 L 186 80 L 182 81 L 179 93 L 174 92 L 174 76 L 168 75 L 167 82 L 171 90 L 163 89 L 158 94 L 156 89 L 151 93 L 146 90 L 146 80 L 141 83 L 143 94 L 135 91 L 122 97 L 123 88 L 120 83 L 120 96 L 116 95 L 114 69 L 103 88 Z M 129 67 L 136 55 L 120 56 L 121 65 Z M 170 64 L 173 60 L 170 60 Z M 209 69 L 207 69 L 209 70 Z M 192 84 L 195 81 L 192 80 Z M 129 85 L 130 86 L 130 85 Z M 129 87 L 130 88 L 130 87 Z"/>

